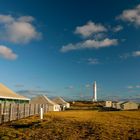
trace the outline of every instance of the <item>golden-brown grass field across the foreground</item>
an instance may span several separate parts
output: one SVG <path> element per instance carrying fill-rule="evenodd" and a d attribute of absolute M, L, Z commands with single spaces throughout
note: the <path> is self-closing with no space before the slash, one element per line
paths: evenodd
<path fill-rule="evenodd" d="M 0 140 L 140 140 L 140 111 L 49 112 L 0 126 Z"/>

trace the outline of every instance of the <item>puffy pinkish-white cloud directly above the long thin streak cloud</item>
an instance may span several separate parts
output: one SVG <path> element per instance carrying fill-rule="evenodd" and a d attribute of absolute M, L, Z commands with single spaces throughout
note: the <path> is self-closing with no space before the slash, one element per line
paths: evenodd
<path fill-rule="evenodd" d="M 90 37 L 93 34 L 106 31 L 107 29 L 102 24 L 89 21 L 86 25 L 76 27 L 75 34 L 80 34 L 83 37 Z"/>

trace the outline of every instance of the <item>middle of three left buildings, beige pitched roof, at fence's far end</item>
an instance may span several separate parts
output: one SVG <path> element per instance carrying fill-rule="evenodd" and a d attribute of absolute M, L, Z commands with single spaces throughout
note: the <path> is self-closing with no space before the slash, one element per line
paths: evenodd
<path fill-rule="evenodd" d="M 60 111 L 60 105 L 51 101 L 47 96 L 37 96 L 31 99 L 31 104 L 47 104 L 48 111 Z"/>

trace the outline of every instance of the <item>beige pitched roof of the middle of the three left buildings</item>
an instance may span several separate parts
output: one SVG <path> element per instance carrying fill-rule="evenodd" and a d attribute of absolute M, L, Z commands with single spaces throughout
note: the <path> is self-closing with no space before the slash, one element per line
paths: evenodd
<path fill-rule="evenodd" d="M 40 95 L 40 96 L 32 98 L 31 103 L 57 105 L 56 103 L 51 101 L 47 96 L 44 96 L 44 95 Z"/>

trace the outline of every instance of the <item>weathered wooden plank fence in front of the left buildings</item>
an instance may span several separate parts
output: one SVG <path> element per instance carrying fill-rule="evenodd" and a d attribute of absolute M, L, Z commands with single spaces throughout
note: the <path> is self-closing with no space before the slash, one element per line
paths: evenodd
<path fill-rule="evenodd" d="M 0 104 L 0 124 L 39 114 L 41 107 L 48 111 L 47 104 Z"/>

